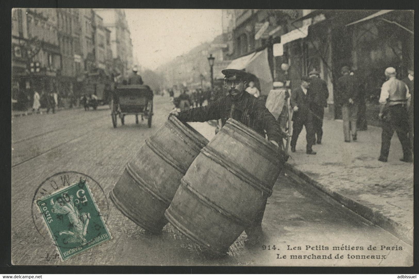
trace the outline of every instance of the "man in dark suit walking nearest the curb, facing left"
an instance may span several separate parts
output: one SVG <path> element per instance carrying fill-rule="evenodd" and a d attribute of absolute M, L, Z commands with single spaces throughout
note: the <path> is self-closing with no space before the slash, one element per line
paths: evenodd
<path fill-rule="evenodd" d="M 292 91 L 291 94 L 291 107 L 294 110 L 292 115 L 292 138 L 291 138 L 291 151 L 295 152 L 295 145 L 297 145 L 298 135 L 305 126 L 306 140 L 307 140 L 307 154 L 316 154 L 312 146 L 316 140 L 313 130 L 313 113 L 310 111 L 310 78 L 301 78 L 301 86 Z"/>

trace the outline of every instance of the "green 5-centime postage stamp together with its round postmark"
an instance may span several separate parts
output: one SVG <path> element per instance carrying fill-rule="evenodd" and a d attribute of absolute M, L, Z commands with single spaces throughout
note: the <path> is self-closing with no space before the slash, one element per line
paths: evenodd
<path fill-rule="evenodd" d="M 31 214 L 35 229 L 54 240 L 63 258 L 111 238 L 108 199 L 85 173 L 63 171 L 45 179 L 34 193 Z"/>

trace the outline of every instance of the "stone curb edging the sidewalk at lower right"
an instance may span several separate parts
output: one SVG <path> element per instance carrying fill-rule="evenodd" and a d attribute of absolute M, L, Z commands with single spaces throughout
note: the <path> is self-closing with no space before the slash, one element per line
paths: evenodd
<path fill-rule="evenodd" d="M 377 210 L 360 204 L 359 202 L 354 201 L 353 199 L 350 199 L 346 196 L 343 196 L 338 192 L 328 190 L 326 186 L 322 185 L 321 183 L 318 183 L 302 171 L 297 170 L 297 168 L 290 165 L 289 163 L 285 163 L 285 168 L 288 171 L 291 171 L 292 173 L 297 175 L 298 177 L 302 178 L 304 181 L 308 182 L 310 185 L 316 187 L 323 193 L 327 194 L 328 196 L 331 196 L 337 202 L 343 204 L 345 207 L 351 209 L 353 212 L 359 214 L 360 216 L 364 217 L 373 224 L 381 227 L 383 230 L 388 231 L 392 235 L 413 246 L 413 233 L 411 233 L 413 227 L 408 228 L 405 225 L 401 225 L 398 222 L 392 220 L 391 218 L 385 217 Z"/>

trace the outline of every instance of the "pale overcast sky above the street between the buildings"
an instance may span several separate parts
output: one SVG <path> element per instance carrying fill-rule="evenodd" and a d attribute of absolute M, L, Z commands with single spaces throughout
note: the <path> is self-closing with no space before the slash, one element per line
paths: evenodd
<path fill-rule="evenodd" d="M 158 66 L 222 33 L 221 10 L 125 9 L 133 56 Z"/>

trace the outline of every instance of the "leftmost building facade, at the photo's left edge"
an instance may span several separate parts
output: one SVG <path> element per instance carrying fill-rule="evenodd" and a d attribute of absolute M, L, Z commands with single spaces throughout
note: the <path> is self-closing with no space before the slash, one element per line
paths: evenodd
<path fill-rule="evenodd" d="M 57 88 L 62 70 L 55 10 L 12 10 L 12 104 L 30 106 L 34 91 L 41 96 Z"/>

